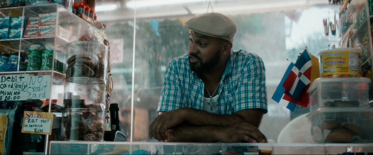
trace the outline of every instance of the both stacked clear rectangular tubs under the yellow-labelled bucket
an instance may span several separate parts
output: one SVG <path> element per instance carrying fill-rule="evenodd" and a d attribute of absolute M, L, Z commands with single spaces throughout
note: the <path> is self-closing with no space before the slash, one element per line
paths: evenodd
<path fill-rule="evenodd" d="M 311 135 L 317 143 L 370 143 L 369 78 L 317 78 L 308 89 Z"/>

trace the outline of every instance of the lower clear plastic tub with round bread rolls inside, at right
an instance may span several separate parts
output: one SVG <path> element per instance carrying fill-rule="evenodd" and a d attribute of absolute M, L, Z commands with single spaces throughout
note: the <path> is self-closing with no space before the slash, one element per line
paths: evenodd
<path fill-rule="evenodd" d="M 319 108 L 307 118 L 314 142 L 372 142 L 373 108 Z"/>

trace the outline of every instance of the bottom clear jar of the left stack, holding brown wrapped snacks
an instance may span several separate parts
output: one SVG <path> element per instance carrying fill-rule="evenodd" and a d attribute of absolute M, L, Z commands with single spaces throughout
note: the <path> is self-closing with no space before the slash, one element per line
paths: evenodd
<path fill-rule="evenodd" d="M 106 111 L 87 108 L 63 109 L 62 140 L 104 141 Z"/>

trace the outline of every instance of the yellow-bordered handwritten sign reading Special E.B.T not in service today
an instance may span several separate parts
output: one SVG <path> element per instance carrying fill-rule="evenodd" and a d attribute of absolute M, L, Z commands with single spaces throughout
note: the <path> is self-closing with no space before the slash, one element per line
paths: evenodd
<path fill-rule="evenodd" d="M 53 113 L 25 111 L 23 114 L 23 133 L 51 135 Z"/>

